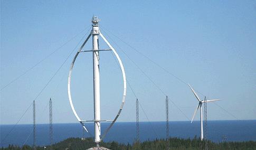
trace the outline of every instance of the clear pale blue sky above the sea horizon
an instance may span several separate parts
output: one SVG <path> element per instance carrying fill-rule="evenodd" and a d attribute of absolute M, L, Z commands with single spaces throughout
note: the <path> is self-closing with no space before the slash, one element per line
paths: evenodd
<path fill-rule="evenodd" d="M 1 1 L 1 88 L 86 29 L 93 14 L 101 19 L 100 27 L 207 98 L 222 99 L 216 103 L 237 119 L 256 119 L 255 1 Z M 85 33 L 1 91 L 1 124 L 16 123 Z M 104 30 L 102 33 L 116 42 L 117 45 L 108 38 L 123 60 L 128 81 L 150 121 L 165 120 L 165 95 L 122 50 L 191 119 L 197 101 L 184 83 L 115 36 Z M 107 48 L 102 40 L 100 47 Z M 85 49 L 91 49 L 91 40 Z M 68 70 L 74 54 L 37 98 L 38 123 L 49 121 L 50 97 L 54 123 L 77 122 L 67 94 Z M 84 120 L 93 119 L 91 56 L 79 56 L 72 79 L 74 105 Z M 121 103 L 121 72 L 110 52 L 101 52 L 100 57 L 101 118 L 112 119 Z M 203 99 L 203 95 L 200 97 Z M 136 121 L 135 101 L 128 87 L 118 121 Z M 236 119 L 214 103 L 208 103 L 207 110 L 208 120 Z M 195 117 L 198 119 L 199 114 Z M 185 120 L 170 103 L 170 121 Z M 140 121 L 147 121 L 141 109 Z M 32 123 L 32 108 L 20 123 Z"/>

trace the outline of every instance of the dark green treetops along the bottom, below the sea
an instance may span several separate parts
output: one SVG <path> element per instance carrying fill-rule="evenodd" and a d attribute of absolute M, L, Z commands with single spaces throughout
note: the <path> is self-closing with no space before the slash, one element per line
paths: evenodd
<path fill-rule="evenodd" d="M 169 149 L 205 149 L 205 143 L 202 142 L 200 138 L 194 137 L 193 139 L 187 138 L 169 138 Z M 55 143 L 52 145 L 52 149 L 54 150 L 77 150 L 77 149 L 87 149 L 93 147 L 95 143 L 92 138 L 85 138 L 85 140 L 81 140 L 81 138 L 68 138 L 67 140 L 61 141 L 59 143 Z M 221 142 L 221 143 L 213 143 L 208 141 L 208 149 L 256 149 L 255 141 L 248 142 Z M 107 147 L 112 150 L 142 150 L 142 149 L 166 149 L 166 140 L 164 139 L 156 139 L 154 141 L 144 141 L 144 142 L 135 142 L 128 144 L 120 144 L 117 142 L 102 142 L 102 147 Z M 23 147 L 9 145 L 8 147 L 2 147 L 2 150 L 32 150 L 33 147 L 29 145 L 24 145 Z M 43 149 L 51 149 L 50 146 L 42 146 L 36 147 L 37 150 Z"/>

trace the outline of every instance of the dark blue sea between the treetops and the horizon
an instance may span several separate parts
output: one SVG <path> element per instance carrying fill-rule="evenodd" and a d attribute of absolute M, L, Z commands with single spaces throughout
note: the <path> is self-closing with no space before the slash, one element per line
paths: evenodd
<path fill-rule="evenodd" d="M 88 123 L 89 131 L 93 134 L 93 124 Z M 102 132 L 105 131 L 109 123 L 102 123 Z M 140 141 L 154 140 L 155 138 L 165 138 L 165 122 L 140 122 Z M 10 132 L 13 125 L 0 125 L 1 129 L 1 147 L 9 144 L 22 146 L 33 143 L 33 125 L 17 125 Z M 32 132 L 32 134 L 30 134 Z M 29 136 L 30 135 L 30 136 Z M 171 137 L 194 138 L 200 136 L 200 122 L 195 121 L 191 124 L 189 121 L 169 122 L 169 135 Z M 54 143 L 65 140 L 68 137 L 82 137 L 83 130 L 78 123 L 53 124 Z M 85 137 L 91 135 L 85 133 Z M 135 122 L 118 122 L 111 128 L 104 141 L 117 141 L 119 143 L 132 143 L 136 137 Z M 226 141 L 256 141 L 256 120 L 243 121 L 208 121 L 207 137 L 213 142 Z M 3 141 L 4 140 L 4 141 Z M 36 125 L 36 144 L 43 146 L 49 145 L 49 124 Z"/>

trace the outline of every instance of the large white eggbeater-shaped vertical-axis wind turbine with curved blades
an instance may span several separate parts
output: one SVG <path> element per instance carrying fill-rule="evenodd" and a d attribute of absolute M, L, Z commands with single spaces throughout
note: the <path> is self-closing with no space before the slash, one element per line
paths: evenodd
<path fill-rule="evenodd" d="M 86 126 L 84 125 L 84 122 L 94 122 L 94 134 L 95 134 L 95 138 L 94 138 L 94 142 L 96 142 L 96 146 L 99 147 L 99 143 L 102 141 L 102 139 L 106 136 L 106 134 L 108 133 L 108 131 L 110 130 L 110 128 L 112 127 L 112 125 L 116 122 L 118 116 L 120 115 L 122 108 L 125 104 L 125 98 L 126 98 L 126 75 L 125 75 L 125 69 L 124 66 L 122 65 L 122 61 L 118 55 L 118 53 L 116 52 L 116 50 L 109 44 L 108 40 L 100 33 L 99 30 L 99 19 L 97 16 L 93 16 L 92 17 L 92 30 L 90 35 L 87 37 L 87 39 L 83 42 L 83 45 L 80 47 L 80 49 L 78 50 L 78 52 L 75 54 L 74 59 L 71 63 L 70 66 L 70 71 L 69 71 L 69 78 L 68 78 L 68 95 L 69 95 L 69 102 L 70 102 L 70 106 L 71 109 L 75 115 L 75 117 L 77 117 L 77 120 L 81 123 L 81 125 L 83 126 L 84 130 L 87 130 Z M 92 36 L 92 50 L 87 50 L 87 51 L 82 51 L 83 46 L 86 44 L 86 42 L 88 41 L 88 39 Z M 102 49 L 99 50 L 99 36 L 106 42 L 106 44 L 109 46 L 110 49 Z M 100 119 L 100 73 L 99 73 L 99 51 L 105 51 L 105 50 L 112 50 L 112 52 L 115 54 L 116 58 L 118 59 L 121 71 L 122 71 L 122 77 L 123 77 L 123 82 L 124 82 L 124 93 L 123 93 L 123 97 L 122 97 L 122 103 L 120 106 L 120 109 L 115 117 L 115 119 L 113 120 L 101 120 Z M 93 99 L 94 99 L 94 120 L 90 121 L 82 121 L 80 119 L 80 117 L 78 116 L 77 112 L 74 109 L 74 105 L 72 102 L 72 98 L 71 98 L 71 89 L 70 89 L 70 85 L 71 85 L 71 74 L 72 74 L 72 70 L 73 70 L 73 66 L 74 66 L 74 62 L 75 59 L 77 59 L 78 54 L 80 52 L 88 52 L 91 51 L 93 53 Z M 102 121 L 111 121 L 111 124 L 109 125 L 109 127 L 107 128 L 107 130 L 103 133 L 103 135 L 101 136 L 101 127 L 100 127 L 100 122 Z"/>

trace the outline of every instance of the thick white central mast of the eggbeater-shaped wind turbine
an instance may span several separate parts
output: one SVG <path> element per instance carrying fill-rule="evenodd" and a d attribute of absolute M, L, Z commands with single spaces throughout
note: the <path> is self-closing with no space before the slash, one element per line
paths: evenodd
<path fill-rule="evenodd" d="M 93 99 L 94 99 L 94 142 L 99 147 L 100 142 L 100 70 L 99 70 L 99 19 L 92 17 L 92 47 L 93 47 Z"/>

